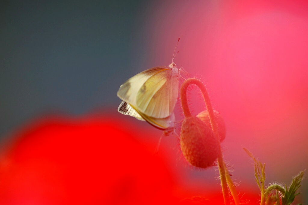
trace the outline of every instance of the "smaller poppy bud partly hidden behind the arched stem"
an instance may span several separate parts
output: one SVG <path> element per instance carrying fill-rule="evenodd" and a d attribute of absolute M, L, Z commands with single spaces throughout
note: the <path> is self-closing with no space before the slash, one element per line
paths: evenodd
<path fill-rule="evenodd" d="M 218 134 L 220 141 L 222 142 L 225 137 L 226 137 L 226 125 L 225 125 L 225 120 L 222 118 L 219 112 L 216 110 L 213 110 L 214 112 L 214 117 L 215 117 L 215 122 L 217 123 L 217 129 L 218 129 Z M 200 118 L 209 128 L 212 129 L 210 118 L 209 118 L 209 112 L 207 110 L 200 112 L 197 117 Z"/>

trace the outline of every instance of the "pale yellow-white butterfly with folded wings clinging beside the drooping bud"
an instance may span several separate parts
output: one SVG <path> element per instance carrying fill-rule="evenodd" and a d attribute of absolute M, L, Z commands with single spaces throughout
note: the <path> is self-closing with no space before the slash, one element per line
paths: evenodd
<path fill-rule="evenodd" d="M 147 69 L 124 82 L 117 92 L 122 100 L 118 111 L 147 121 L 166 133 L 173 131 L 173 110 L 178 98 L 181 71 L 173 58 L 168 66 Z"/>

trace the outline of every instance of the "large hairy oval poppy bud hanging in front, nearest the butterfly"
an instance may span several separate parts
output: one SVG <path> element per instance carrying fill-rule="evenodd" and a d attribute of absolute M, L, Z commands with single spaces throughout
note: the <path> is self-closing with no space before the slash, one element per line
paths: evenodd
<path fill-rule="evenodd" d="M 219 142 L 212 129 L 196 116 L 182 122 L 180 146 L 185 159 L 193 166 L 213 166 L 219 154 Z"/>

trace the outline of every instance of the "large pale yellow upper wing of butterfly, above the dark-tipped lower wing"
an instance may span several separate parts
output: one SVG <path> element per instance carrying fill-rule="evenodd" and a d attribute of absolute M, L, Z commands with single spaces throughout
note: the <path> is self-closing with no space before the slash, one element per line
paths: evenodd
<path fill-rule="evenodd" d="M 145 70 L 128 79 L 117 93 L 139 113 L 166 118 L 173 113 L 179 82 L 168 66 Z"/>

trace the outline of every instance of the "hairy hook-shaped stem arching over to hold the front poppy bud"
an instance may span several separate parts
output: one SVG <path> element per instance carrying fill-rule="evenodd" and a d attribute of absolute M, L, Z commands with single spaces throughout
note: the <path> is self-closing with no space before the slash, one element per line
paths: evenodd
<path fill-rule="evenodd" d="M 220 175 L 220 180 L 221 180 L 221 188 L 222 188 L 222 194 L 224 197 L 224 201 L 225 201 L 225 205 L 229 205 L 230 204 L 230 200 L 229 200 L 229 191 L 228 191 L 228 185 L 227 185 L 227 180 L 226 180 L 226 172 L 225 172 L 225 162 L 222 158 L 222 152 L 221 152 L 221 146 L 220 146 L 220 139 L 219 139 L 219 134 L 218 134 L 218 129 L 217 129 L 217 125 L 215 123 L 215 118 L 214 118 L 214 112 L 213 112 L 213 108 L 209 99 L 209 95 L 205 89 L 205 86 L 201 83 L 201 81 L 199 81 L 198 79 L 195 78 L 189 78 L 186 81 L 184 81 L 182 87 L 181 87 L 181 103 L 182 103 L 182 107 L 183 107 L 183 112 L 185 117 L 191 116 L 191 113 L 189 111 L 188 108 L 188 103 L 187 103 L 187 88 L 190 84 L 195 84 L 199 87 L 199 89 L 201 90 L 201 93 L 203 95 L 204 101 L 205 101 L 205 105 L 206 108 L 209 112 L 209 118 L 210 118 L 210 122 L 211 122 L 211 126 L 212 126 L 212 130 L 219 142 L 219 154 L 218 154 L 218 158 L 217 158 L 217 162 L 218 162 L 218 168 L 219 168 L 219 175 Z"/>

